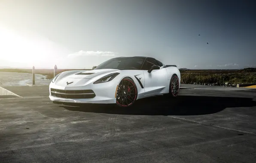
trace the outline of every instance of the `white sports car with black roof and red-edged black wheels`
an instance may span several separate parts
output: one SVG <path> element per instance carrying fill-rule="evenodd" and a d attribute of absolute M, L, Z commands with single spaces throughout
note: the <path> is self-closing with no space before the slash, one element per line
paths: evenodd
<path fill-rule="evenodd" d="M 131 106 L 145 97 L 179 93 L 179 69 L 152 57 L 116 57 L 93 68 L 56 75 L 49 85 L 50 100 Z"/>

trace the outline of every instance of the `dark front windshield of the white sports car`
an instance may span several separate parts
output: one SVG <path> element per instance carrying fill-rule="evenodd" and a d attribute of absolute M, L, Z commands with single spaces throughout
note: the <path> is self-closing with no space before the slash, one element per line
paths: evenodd
<path fill-rule="evenodd" d="M 143 64 L 144 58 L 140 57 L 123 57 L 113 58 L 101 63 L 95 69 L 140 69 Z"/>

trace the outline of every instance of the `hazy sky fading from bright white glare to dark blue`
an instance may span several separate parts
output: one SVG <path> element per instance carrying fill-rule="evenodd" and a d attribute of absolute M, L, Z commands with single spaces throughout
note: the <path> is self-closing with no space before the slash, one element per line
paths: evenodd
<path fill-rule="evenodd" d="M 0 67 L 90 69 L 125 56 L 256 67 L 255 8 L 254 0 L 0 0 Z"/>

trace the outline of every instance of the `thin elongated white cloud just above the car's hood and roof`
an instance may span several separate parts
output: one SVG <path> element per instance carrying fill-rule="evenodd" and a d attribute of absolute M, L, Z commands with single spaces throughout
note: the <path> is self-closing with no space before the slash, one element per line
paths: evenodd
<path fill-rule="evenodd" d="M 73 54 L 68 54 L 68 57 L 82 57 L 82 56 L 115 56 L 116 52 L 112 51 L 77 51 Z"/>

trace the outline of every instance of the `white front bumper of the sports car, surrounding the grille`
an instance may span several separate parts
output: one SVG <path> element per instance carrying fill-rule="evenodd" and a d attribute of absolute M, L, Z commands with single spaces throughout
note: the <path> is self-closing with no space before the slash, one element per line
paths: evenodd
<path fill-rule="evenodd" d="M 83 85 L 83 86 L 63 87 L 63 86 L 55 85 L 55 83 L 51 82 L 51 84 L 49 85 L 49 93 L 50 93 L 49 98 L 52 101 L 62 102 L 62 103 L 102 103 L 102 104 L 116 103 L 116 87 L 119 84 L 119 81 L 112 80 L 111 82 L 105 82 L 105 83 L 99 83 L 99 84 L 93 84 L 92 82 L 87 82 L 87 83 L 88 83 L 87 85 Z M 57 89 L 61 91 L 55 92 L 55 90 L 52 90 L 52 89 Z M 86 91 L 81 92 L 81 90 L 86 90 Z M 88 90 L 91 90 L 92 92 L 88 92 Z M 77 92 L 79 92 L 79 94 Z M 62 93 L 62 94 L 58 94 L 58 93 Z M 80 93 L 86 94 L 85 98 L 79 98 L 81 97 Z M 87 97 L 87 94 L 88 94 L 88 97 Z M 76 97 L 76 98 L 71 98 L 71 97 Z"/>

